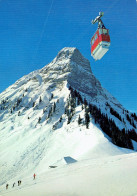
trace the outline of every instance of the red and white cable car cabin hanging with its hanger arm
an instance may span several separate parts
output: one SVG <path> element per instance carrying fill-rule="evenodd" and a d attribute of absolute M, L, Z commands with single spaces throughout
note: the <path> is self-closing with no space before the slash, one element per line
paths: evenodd
<path fill-rule="evenodd" d="M 98 29 L 91 38 L 91 56 L 95 60 L 100 60 L 110 47 L 109 30 L 105 28 L 101 20 L 103 15 L 103 12 L 99 12 L 99 16 L 92 20 L 92 24 L 98 22 Z"/>

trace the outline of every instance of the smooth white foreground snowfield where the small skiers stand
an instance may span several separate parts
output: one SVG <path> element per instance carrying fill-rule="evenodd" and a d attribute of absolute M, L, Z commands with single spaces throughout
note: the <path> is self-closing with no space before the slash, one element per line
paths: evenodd
<path fill-rule="evenodd" d="M 136 196 L 137 153 L 87 159 L 22 179 L 22 185 L 1 187 L 7 196 Z"/>

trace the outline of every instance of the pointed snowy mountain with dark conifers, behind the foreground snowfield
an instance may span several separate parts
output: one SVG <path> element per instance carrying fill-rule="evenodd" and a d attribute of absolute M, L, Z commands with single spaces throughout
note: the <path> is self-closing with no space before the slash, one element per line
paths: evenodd
<path fill-rule="evenodd" d="M 64 157 L 81 167 L 87 159 L 136 156 L 128 149 L 137 150 L 136 127 L 137 116 L 101 86 L 79 50 L 64 48 L 0 94 L 0 194 L 5 183 L 49 175 L 49 166 L 67 171 Z"/>

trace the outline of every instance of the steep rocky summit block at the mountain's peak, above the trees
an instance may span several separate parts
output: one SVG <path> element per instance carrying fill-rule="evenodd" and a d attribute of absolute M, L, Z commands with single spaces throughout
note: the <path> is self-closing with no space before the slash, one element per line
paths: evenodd
<path fill-rule="evenodd" d="M 63 48 L 57 57 L 42 69 L 57 75 L 53 82 L 68 81 L 73 88 L 95 97 L 97 94 L 105 96 L 100 82 L 94 77 L 89 61 L 82 56 L 77 48 Z"/>

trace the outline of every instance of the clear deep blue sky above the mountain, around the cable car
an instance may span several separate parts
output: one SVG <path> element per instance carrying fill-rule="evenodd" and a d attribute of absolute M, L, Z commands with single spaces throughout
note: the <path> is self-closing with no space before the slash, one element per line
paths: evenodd
<path fill-rule="evenodd" d="M 90 39 L 99 11 L 110 31 L 109 52 L 94 61 Z M 40 69 L 64 47 L 77 47 L 94 75 L 126 109 L 137 112 L 136 0 L 1 0 L 0 92 Z"/>

